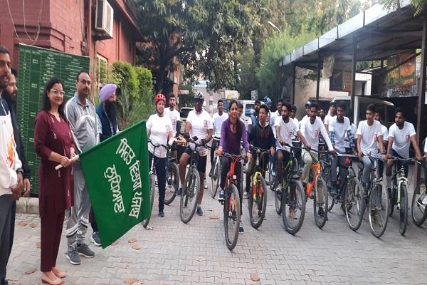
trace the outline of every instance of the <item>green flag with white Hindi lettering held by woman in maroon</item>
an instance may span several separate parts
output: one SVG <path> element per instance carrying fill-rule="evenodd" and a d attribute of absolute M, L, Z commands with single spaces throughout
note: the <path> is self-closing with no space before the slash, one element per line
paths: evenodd
<path fill-rule="evenodd" d="M 145 122 L 80 154 L 102 248 L 151 214 Z"/>

